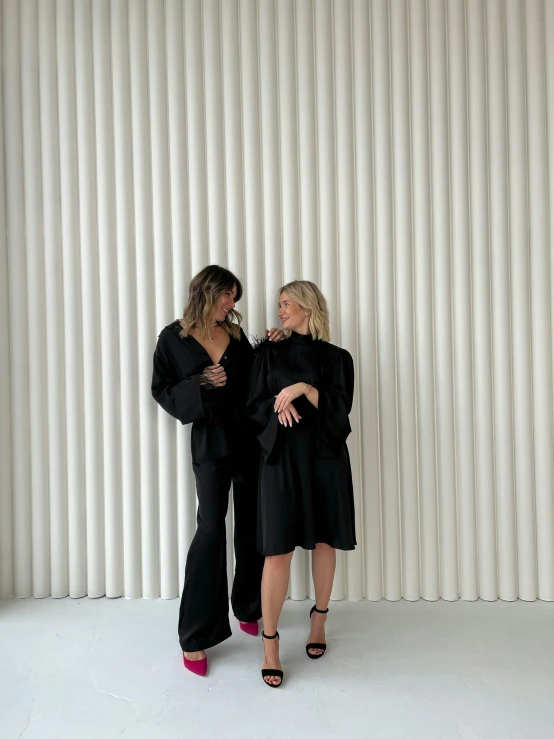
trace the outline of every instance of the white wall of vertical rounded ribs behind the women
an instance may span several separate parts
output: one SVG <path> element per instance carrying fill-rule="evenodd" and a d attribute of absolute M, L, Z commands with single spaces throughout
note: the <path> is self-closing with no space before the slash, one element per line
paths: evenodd
<path fill-rule="evenodd" d="M 334 598 L 554 600 L 554 0 L 0 13 L 0 594 L 179 594 L 151 355 L 215 262 L 258 335 L 318 282 L 355 358 Z"/>

